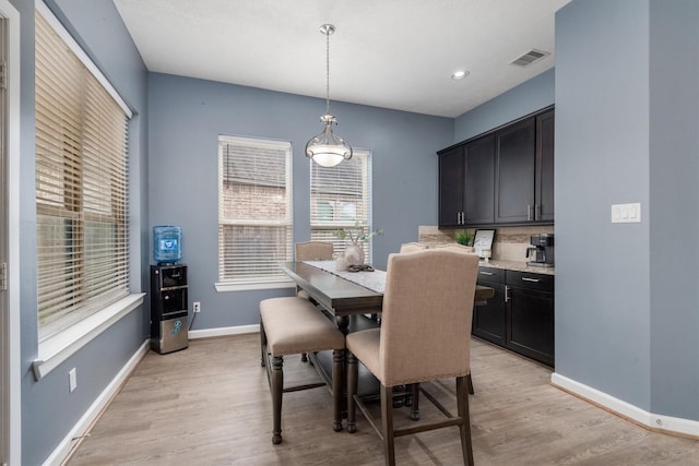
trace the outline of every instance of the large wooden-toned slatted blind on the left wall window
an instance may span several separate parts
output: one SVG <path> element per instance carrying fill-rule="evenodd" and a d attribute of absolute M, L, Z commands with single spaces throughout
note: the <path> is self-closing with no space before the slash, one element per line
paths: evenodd
<path fill-rule="evenodd" d="M 40 339 L 129 294 L 128 116 L 44 14 L 35 15 Z"/>

